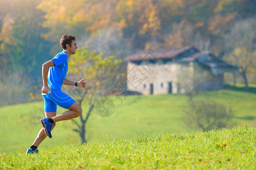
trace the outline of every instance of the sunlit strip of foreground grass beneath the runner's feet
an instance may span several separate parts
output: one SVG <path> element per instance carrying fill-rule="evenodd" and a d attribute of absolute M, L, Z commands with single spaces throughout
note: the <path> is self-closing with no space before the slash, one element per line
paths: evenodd
<path fill-rule="evenodd" d="M 172 133 L 0 154 L 0 169 L 254 169 L 255 128 Z"/>

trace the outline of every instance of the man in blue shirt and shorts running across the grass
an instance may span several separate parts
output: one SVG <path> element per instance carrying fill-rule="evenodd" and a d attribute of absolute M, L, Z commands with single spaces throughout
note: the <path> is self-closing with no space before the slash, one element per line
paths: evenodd
<path fill-rule="evenodd" d="M 68 58 L 76 53 L 76 37 L 71 35 L 62 36 L 60 46 L 63 48 L 63 51 L 42 65 L 42 96 L 44 98 L 46 118 L 40 120 L 43 128 L 39 131 L 32 146 L 27 149 L 26 155 L 38 153 L 40 143 L 47 136 L 49 138 L 52 137 L 51 130 L 56 122 L 79 117 L 82 114 L 82 109 L 75 100 L 61 91 L 62 84 L 81 88 L 86 87 L 85 78 L 79 82 L 73 82 L 65 78 L 68 72 Z M 57 105 L 68 109 L 68 111 L 56 116 Z"/>

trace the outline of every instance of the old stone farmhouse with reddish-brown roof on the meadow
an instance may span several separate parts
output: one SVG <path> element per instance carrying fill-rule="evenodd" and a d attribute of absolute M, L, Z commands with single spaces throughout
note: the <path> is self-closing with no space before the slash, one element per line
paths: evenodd
<path fill-rule="evenodd" d="M 143 95 L 218 90 L 224 73 L 238 73 L 237 66 L 194 46 L 139 51 L 125 61 L 127 90 Z"/>

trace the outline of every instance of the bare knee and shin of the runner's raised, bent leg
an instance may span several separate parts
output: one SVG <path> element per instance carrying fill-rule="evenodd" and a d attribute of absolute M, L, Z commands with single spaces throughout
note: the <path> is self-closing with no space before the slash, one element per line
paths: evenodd
<path fill-rule="evenodd" d="M 82 109 L 76 102 L 73 103 L 68 109 L 69 111 L 52 117 L 53 122 L 69 120 L 75 117 L 79 117 L 82 114 Z"/>

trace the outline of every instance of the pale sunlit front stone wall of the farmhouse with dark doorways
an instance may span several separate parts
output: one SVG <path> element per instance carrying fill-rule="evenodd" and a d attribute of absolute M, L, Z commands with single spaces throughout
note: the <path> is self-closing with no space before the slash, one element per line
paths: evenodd
<path fill-rule="evenodd" d="M 144 95 L 185 93 L 192 88 L 192 75 L 192 62 L 164 65 L 160 63 L 151 65 L 147 62 L 135 65 L 128 62 L 127 88 Z M 184 86 L 184 83 L 189 84 Z"/>

